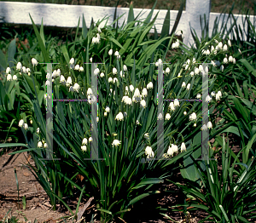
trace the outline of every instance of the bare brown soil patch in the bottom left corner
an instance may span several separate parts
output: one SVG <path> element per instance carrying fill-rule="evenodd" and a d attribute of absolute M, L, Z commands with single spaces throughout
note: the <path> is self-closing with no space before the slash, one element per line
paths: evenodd
<path fill-rule="evenodd" d="M 27 220 L 32 222 L 35 219 L 38 222 L 55 222 L 58 218 L 67 215 L 49 210 L 49 200 L 44 189 L 33 174 L 22 165 L 22 163 L 27 163 L 26 159 L 30 156 L 21 153 L 15 154 L 11 159 L 10 157 L 9 154 L 0 157 L 0 220 L 3 219 L 9 209 L 12 209 L 9 216 L 18 216 L 21 221 L 25 220 L 24 215 Z M 19 183 L 20 200 L 23 196 L 26 197 L 25 210 L 22 207 L 19 209 L 15 169 Z"/>

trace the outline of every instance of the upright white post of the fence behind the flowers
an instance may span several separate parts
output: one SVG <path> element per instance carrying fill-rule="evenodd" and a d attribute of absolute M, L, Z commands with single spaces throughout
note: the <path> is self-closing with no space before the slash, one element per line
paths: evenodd
<path fill-rule="evenodd" d="M 197 36 L 201 37 L 200 15 L 203 19 L 204 14 L 206 14 L 206 19 L 209 21 L 210 11 L 211 0 L 186 0 L 186 19 L 188 20 L 184 35 L 184 43 L 186 45 L 194 44 L 190 26 L 195 29 Z"/>

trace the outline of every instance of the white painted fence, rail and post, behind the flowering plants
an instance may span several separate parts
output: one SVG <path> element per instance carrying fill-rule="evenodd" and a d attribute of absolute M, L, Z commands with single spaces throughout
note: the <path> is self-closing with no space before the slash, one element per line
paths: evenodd
<path fill-rule="evenodd" d="M 107 20 L 102 22 L 102 26 L 110 25 L 113 22 L 113 14 L 115 8 L 111 7 L 100 7 L 100 6 L 81 6 L 81 5 L 66 5 L 66 4 L 49 4 L 49 3 L 18 3 L 18 2 L 0 2 L 0 18 L 2 17 L 2 22 L 15 23 L 15 24 L 26 24 L 32 25 L 29 14 L 31 14 L 32 19 L 35 24 L 41 25 L 41 20 L 43 18 L 44 26 L 59 26 L 59 27 L 75 27 L 78 26 L 79 17 L 82 19 L 84 14 L 84 19 L 86 25 L 90 26 L 90 20 L 93 18 L 94 21 L 102 20 L 106 15 L 110 16 Z M 145 19 L 150 12 L 150 9 L 134 9 L 134 16 L 136 17 L 143 10 L 143 13 L 139 17 L 140 19 Z M 119 20 L 119 26 L 124 20 L 127 20 L 129 8 L 118 8 L 117 16 L 125 14 Z M 165 20 L 167 10 L 154 10 L 152 19 L 159 12 L 157 20 L 155 22 L 155 27 L 158 32 L 161 31 L 162 24 Z M 177 17 L 177 10 L 171 10 L 171 27 Z M 200 15 L 206 14 L 207 20 L 209 20 L 209 35 L 212 34 L 213 24 L 216 17 L 219 17 L 218 13 L 210 13 L 210 0 L 187 0 L 186 10 L 183 11 L 181 20 L 177 26 L 177 31 L 183 31 L 184 43 L 193 43 L 190 28 L 195 28 L 195 31 L 199 37 L 201 37 L 201 25 L 200 25 Z M 245 15 L 235 14 L 237 18 L 238 25 L 243 27 L 242 20 L 245 20 Z M 227 20 L 228 15 L 222 15 L 220 21 Z M 250 20 L 253 25 L 256 16 L 250 16 Z M 1 21 L 0 21 L 1 22 Z M 80 27 L 82 27 L 82 20 L 80 20 Z M 230 22 L 228 23 L 228 28 L 230 27 Z M 246 34 L 247 29 L 243 31 L 243 35 Z M 152 29 L 150 32 L 154 32 Z"/>

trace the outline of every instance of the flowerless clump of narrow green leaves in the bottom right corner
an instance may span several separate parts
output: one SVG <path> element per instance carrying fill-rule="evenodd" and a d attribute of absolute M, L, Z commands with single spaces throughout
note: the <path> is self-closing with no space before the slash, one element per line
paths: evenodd
<path fill-rule="evenodd" d="M 251 147 L 250 149 L 252 150 Z M 255 219 L 256 214 L 253 213 L 256 210 L 255 153 L 252 150 L 253 157 L 247 163 L 239 163 L 241 152 L 244 151 L 245 147 L 237 155 L 232 152 L 229 140 L 226 143 L 223 135 L 220 175 L 218 175 L 218 163 L 215 160 L 204 162 L 205 171 L 195 162 L 203 184 L 202 192 L 193 181 L 188 181 L 187 186 L 182 186 L 170 180 L 193 197 L 185 206 L 207 211 L 209 215 L 205 220 L 213 217 L 212 221 L 215 222 L 249 222 L 248 219 Z M 235 165 L 240 165 L 242 168 L 237 170 Z"/>

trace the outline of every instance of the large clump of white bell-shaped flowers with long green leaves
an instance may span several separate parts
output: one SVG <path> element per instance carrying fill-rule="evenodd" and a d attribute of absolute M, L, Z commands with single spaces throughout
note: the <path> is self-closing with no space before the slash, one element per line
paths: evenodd
<path fill-rule="evenodd" d="M 178 18 L 181 11 L 182 7 Z M 44 37 L 43 21 L 38 31 L 32 20 L 37 36 L 33 49 L 20 54 L 15 60 L 14 42 L 11 42 L 9 59 L 5 62 L 1 60 L 5 69 L 0 97 L 1 117 L 5 119 L 5 126 L 1 125 L 1 128 L 7 130 L 8 134 L 15 133 L 17 128 L 12 126 L 15 123 L 26 140 L 26 144 L 3 144 L 2 147 L 26 147 L 26 150 L 19 152 L 30 152 L 32 155 L 36 168 L 30 165 L 27 168 L 47 192 L 54 209 L 56 203 L 63 203 L 77 218 L 79 204 L 76 210 L 72 210 L 64 197 L 73 197 L 79 193 L 79 203 L 82 197 L 95 197 L 96 209 L 101 211 L 102 221 L 125 219 L 125 213 L 132 209 L 133 203 L 159 193 L 150 190 L 150 187 L 172 175 L 177 162 L 195 162 L 201 147 L 201 130 L 211 129 L 210 138 L 216 136 L 213 146 L 223 145 L 218 134 L 224 131 L 233 131 L 240 136 L 247 131 L 247 137 L 242 138 L 242 147 L 249 146 L 242 157 L 243 163 L 249 162 L 249 151 L 255 140 L 253 117 L 248 119 L 244 115 L 241 120 L 244 123 L 240 127 L 234 116 L 241 112 L 238 102 L 236 106 L 230 106 L 234 117 L 224 110 L 228 106 L 225 101 L 235 100 L 233 96 L 236 92 L 241 95 L 240 83 L 249 100 L 247 86 L 254 90 L 251 83 L 255 83 L 251 65 L 253 57 L 247 60 L 241 58 L 241 54 L 245 53 L 243 51 L 233 54 L 234 46 L 230 40 L 221 39 L 219 34 L 208 41 L 199 41 L 197 49 L 189 49 L 174 36 L 178 20 L 169 35 L 170 11 L 166 14 L 160 37 L 156 31 L 153 36 L 148 35 L 157 18 L 156 15 L 150 21 L 152 14 L 153 10 L 146 20 L 138 20 L 138 17 L 134 18 L 131 7 L 127 24 L 117 26 L 118 18 L 111 26 L 100 28 L 108 20 L 103 18 L 96 23 L 92 20 L 89 30 L 83 18 L 81 34 L 78 26 L 73 42 L 61 46 L 55 44 L 54 38 Z M 177 53 L 167 60 L 171 48 Z M 47 66 L 40 64 L 45 62 L 59 64 L 54 65 L 52 74 L 49 74 Z M 94 62 L 102 65 L 92 67 L 89 63 Z M 166 65 L 165 62 L 170 64 Z M 211 63 L 211 94 L 207 95 L 207 99 L 201 97 L 203 66 L 199 63 L 203 62 Z M 164 98 L 173 101 L 164 100 L 164 113 L 157 117 L 157 80 L 158 68 L 161 67 L 164 70 Z M 241 75 L 237 67 L 242 67 Z M 96 161 L 84 160 L 91 157 L 90 131 L 93 126 L 90 106 L 96 103 L 92 96 L 91 73 L 98 78 L 96 122 L 99 157 L 103 159 Z M 250 85 L 245 78 L 248 78 Z M 45 107 L 49 81 L 52 81 L 53 98 L 87 100 L 53 103 L 53 145 L 47 145 L 46 142 L 49 129 L 46 130 Z M 230 83 L 230 89 L 225 89 L 228 87 L 225 83 Z M 234 95 L 230 95 L 230 92 Z M 201 126 L 201 101 L 178 100 L 189 98 L 209 101 L 210 118 L 206 125 Z M 254 111 L 252 103 L 249 104 L 247 100 L 241 100 L 241 103 Z M 218 117 L 217 112 L 213 113 L 215 108 L 226 115 L 219 123 L 214 122 Z M 11 122 L 8 121 L 8 111 L 11 111 Z M 152 159 L 157 153 L 158 118 L 164 119 L 165 127 L 164 152 L 161 157 L 171 158 L 169 160 Z M 226 120 L 228 123 L 224 123 Z M 247 122 L 251 122 L 251 126 L 247 127 Z M 235 124 L 238 131 L 234 130 Z M 48 156 L 51 146 L 53 159 L 43 160 Z M 198 163 L 192 168 L 184 168 L 181 173 L 183 177 L 196 181 L 198 187 L 204 183 L 203 180 L 200 182 L 201 172 L 207 171 L 208 167 L 201 165 L 201 172 L 196 172 L 196 169 L 199 169 Z M 83 182 L 76 180 L 79 174 L 84 176 Z M 226 207 L 223 207 L 227 214 Z M 218 214 L 219 210 L 223 212 L 219 206 L 215 208 L 218 208 Z M 237 213 L 242 217 L 240 209 Z"/>

